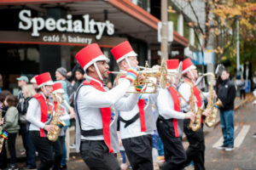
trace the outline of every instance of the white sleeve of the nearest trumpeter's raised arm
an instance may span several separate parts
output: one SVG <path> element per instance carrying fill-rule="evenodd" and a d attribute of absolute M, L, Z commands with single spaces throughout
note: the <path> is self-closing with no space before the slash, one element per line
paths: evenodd
<path fill-rule="evenodd" d="M 108 92 L 102 92 L 92 86 L 84 86 L 80 89 L 79 95 L 84 100 L 84 106 L 90 108 L 104 108 L 114 105 L 121 97 L 124 96 L 126 90 L 130 88 L 131 82 L 127 79 L 120 82 L 119 85 L 112 88 Z"/>

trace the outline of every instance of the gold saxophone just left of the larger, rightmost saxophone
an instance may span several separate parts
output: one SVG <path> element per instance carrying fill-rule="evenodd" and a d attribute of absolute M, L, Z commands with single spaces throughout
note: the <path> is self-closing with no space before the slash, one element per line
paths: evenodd
<path fill-rule="evenodd" d="M 189 106 L 190 106 L 190 111 L 195 113 L 195 97 L 194 97 L 194 90 L 193 90 L 193 86 L 192 84 L 190 84 L 190 88 L 191 88 L 191 94 L 189 97 Z M 201 108 L 198 108 L 198 111 L 195 114 L 195 121 L 192 122 L 190 120 L 189 122 L 189 128 L 191 128 L 194 132 L 198 131 L 201 128 L 201 114 L 202 114 L 203 110 Z"/>

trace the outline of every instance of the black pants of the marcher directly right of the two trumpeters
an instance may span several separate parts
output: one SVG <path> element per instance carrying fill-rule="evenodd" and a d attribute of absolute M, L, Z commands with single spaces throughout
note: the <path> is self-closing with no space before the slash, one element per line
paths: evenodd
<path fill-rule="evenodd" d="M 172 121 L 157 120 L 157 131 L 164 144 L 165 159 L 163 170 L 179 170 L 185 167 L 186 153 L 182 137 L 175 137 Z"/>

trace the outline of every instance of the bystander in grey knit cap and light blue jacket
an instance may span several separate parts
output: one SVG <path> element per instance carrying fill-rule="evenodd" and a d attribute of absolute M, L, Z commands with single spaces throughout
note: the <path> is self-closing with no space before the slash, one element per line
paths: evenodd
<path fill-rule="evenodd" d="M 66 82 L 66 85 L 62 84 L 62 87 L 67 87 L 67 95 L 68 98 L 71 94 L 73 94 L 73 86 L 71 82 L 67 80 L 67 70 L 64 67 L 60 67 L 55 71 L 55 77 L 57 81 L 64 81 Z M 62 82 L 61 82 L 62 83 Z M 65 89 L 64 89 L 65 90 Z"/>

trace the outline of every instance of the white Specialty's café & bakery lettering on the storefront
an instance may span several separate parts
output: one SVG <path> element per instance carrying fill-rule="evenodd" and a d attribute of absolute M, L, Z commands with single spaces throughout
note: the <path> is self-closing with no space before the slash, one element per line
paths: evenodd
<path fill-rule="evenodd" d="M 102 38 L 104 31 L 106 31 L 109 36 L 114 33 L 114 26 L 109 20 L 106 20 L 105 22 L 96 22 L 93 19 L 90 20 L 89 14 L 84 14 L 83 20 L 73 20 L 73 16 L 71 14 L 67 14 L 67 19 L 55 20 L 53 18 L 48 18 L 45 20 L 41 17 L 32 18 L 31 10 L 23 9 L 20 11 L 19 18 L 19 29 L 29 30 L 32 28 L 32 37 L 39 37 L 39 31 L 44 29 L 47 31 L 96 34 L 96 40 Z M 57 37 L 53 38 L 55 39 Z M 77 40 L 76 38 L 72 40 L 73 37 L 67 38 L 70 38 L 71 41 L 88 41 L 80 39 Z"/>

